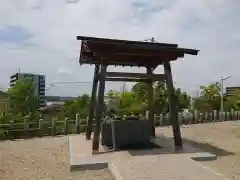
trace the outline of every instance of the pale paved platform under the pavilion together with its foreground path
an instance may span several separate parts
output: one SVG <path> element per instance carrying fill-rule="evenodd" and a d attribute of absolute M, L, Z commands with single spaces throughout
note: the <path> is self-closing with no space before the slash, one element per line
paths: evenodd
<path fill-rule="evenodd" d="M 83 135 L 71 136 L 73 156 L 70 163 L 112 162 L 122 180 L 226 180 L 223 175 L 190 158 L 201 150 L 185 145 L 184 150 L 175 152 L 169 140 L 156 140 L 159 141 L 163 148 L 105 153 L 100 146 L 102 154 L 92 155 L 91 141 L 86 141 Z"/>

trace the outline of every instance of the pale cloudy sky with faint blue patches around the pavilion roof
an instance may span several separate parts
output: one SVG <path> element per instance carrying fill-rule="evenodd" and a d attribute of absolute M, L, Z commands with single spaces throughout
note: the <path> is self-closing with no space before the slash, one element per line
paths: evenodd
<path fill-rule="evenodd" d="M 78 64 L 77 35 L 130 40 L 154 36 L 159 42 L 200 49 L 199 56 L 172 63 L 176 85 L 191 94 L 221 76 L 232 75 L 226 85 L 240 85 L 239 17 L 239 0 L 1 0 L 0 88 L 8 87 L 9 76 L 18 68 L 45 74 L 48 84 L 91 82 L 93 67 Z M 121 84 L 107 87 L 119 89 Z M 90 90 L 91 83 L 57 85 L 48 93 L 78 95 Z"/>

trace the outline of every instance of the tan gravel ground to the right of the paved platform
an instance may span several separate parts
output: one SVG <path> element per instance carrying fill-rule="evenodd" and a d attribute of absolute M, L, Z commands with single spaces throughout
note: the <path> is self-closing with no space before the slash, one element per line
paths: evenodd
<path fill-rule="evenodd" d="M 172 136 L 170 127 L 158 132 Z M 202 162 L 232 180 L 240 180 L 240 121 L 181 126 L 183 137 L 193 145 L 218 155 L 214 161 Z"/>

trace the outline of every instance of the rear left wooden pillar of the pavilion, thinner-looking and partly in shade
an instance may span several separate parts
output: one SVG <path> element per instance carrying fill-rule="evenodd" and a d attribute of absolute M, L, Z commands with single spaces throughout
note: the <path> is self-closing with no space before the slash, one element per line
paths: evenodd
<path fill-rule="evenodd" d="M 90 102 L 89 116 L 88 116 L 88 122 L 87 122 L 87 130 L 86 130 L 86 140 L 91 139 L 93 117 L 96 109 L 96 92 L 97 92 L 97 85 L 98 85 L 98 77 L 97 77 L 98 74 L 99 74 L 99 66 L 95 65 L 93 85 L 92 85 L 92 97 Z"/>

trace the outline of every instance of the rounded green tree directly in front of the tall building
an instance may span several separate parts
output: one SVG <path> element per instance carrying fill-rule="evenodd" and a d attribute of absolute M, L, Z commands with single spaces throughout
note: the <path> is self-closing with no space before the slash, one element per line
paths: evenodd
<path fill-rule="evenodd" d="M 8 89 L 10 112 L 14 116 L 34 116 L 38 110 L 38 97 L 35 95 L 35 85 L 32 80 L 24 79 L 16 81 L 16 84 Z M 31 118 L 31 117 L 30 117 Z"/>

